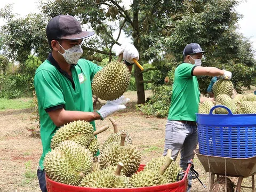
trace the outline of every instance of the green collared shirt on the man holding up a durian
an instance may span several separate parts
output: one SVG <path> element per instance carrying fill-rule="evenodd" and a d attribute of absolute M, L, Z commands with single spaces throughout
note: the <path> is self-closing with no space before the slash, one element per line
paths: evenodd
<path fill-rule="evenodd" d="M 51 150 L 52 136 L 59 129 L 46 111 L 59 107 L 65 110 L 92 112 L 91 82 L 93 76 L 101 69 L 91 61 L 79 59 L 77 65 L 71 66 L 73 80 L 70 81 L 59 68 L 58 63 L 54 59 L 51 63 L 49 58 L 38 67 L 34 79 L 43 146 L 43 154 L 39 161 L 42 170 L 44 157 Z M 91 124 L 95 130 L 94 121 Z"/>

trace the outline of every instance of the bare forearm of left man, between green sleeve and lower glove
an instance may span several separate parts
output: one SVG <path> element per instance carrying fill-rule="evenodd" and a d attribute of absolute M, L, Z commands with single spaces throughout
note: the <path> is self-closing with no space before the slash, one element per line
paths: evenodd
<path fill-rule="evenodd" d="M 91 122 L 101 119 L 97 112 L 70 111 L 64 108 L 49 111 L 48 114 L 56 126 L 62 126 L 77 120 Z"/>

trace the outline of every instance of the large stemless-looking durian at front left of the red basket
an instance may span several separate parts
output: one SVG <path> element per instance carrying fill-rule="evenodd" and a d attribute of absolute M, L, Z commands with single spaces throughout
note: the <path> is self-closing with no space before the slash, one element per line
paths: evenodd
<path fill-rule="evenodd" d="M 78 186 L 86 174 L 92 172 L 92 153 L 74 141 L 62 141 L 46 154 L 44 169 L 53 181 Z"/>

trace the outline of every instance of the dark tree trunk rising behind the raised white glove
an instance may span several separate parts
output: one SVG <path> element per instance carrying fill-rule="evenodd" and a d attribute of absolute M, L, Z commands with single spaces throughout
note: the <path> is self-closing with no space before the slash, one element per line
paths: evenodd
<path fill-rule="evenodd" d="M 140 45 L 139 45 L 139 38 L 140 38 L 140 31 L 139 31 L 139 1 L 134 0 L 133 1 L 133 31 L 137 31 L 138 37 L 134 38 L 133 44 L 138 49 L 140 53 Z M 145 90 L 144 90 L 144 83 L 141 83 L 143 81 L 143 74 L 140 73 L 140 68 L 134 63 L 134 77 L 136 82 L 136 90 L 137 90 L 137 103 L 145 103 Z"/>

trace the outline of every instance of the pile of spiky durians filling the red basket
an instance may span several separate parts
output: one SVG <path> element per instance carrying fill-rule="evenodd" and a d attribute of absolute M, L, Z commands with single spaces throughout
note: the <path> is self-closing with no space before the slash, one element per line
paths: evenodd
<path fill-rule="evenodd" d="M 94 188 L 149 187 L 177 181 L 181 169 L 173 162 L 171 150 L 166 156 L 151 159 L 143 171 L 137 172 L 141 164 L 140 151 L 132 145 L 130 134 L 119 131 L 113 118 L 109 120 L 114 133 L 102 146 L 95 135 L 109 126 L 94 132 L 93 126 L 85 121 L 60 127 L 52 138 L 52 150 L 44 159 L 47 177 L 67 185 Z"/>

